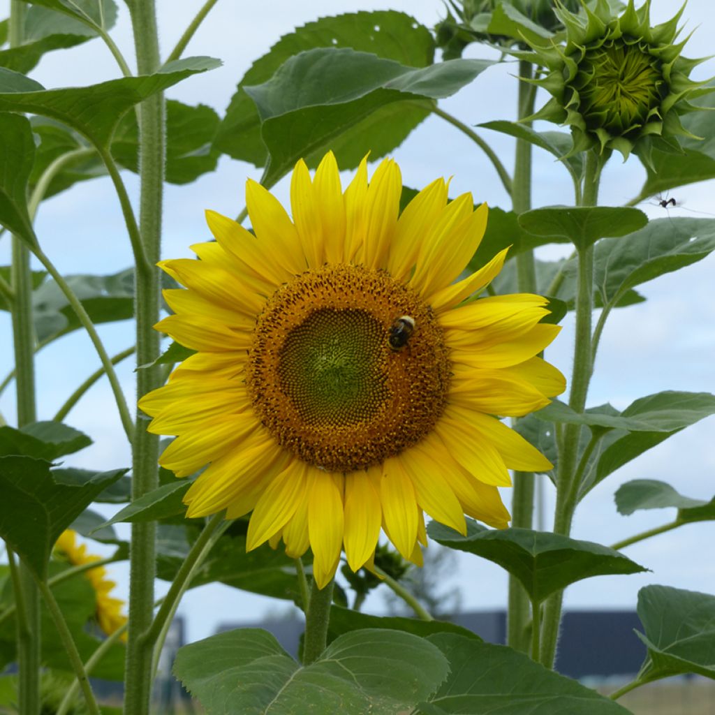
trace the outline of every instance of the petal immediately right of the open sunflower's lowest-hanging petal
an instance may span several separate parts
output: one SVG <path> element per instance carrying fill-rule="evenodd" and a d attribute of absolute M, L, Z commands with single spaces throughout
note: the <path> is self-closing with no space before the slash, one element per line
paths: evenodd
<path fill-rule="evenodd" d="M 377 468 L 371 468 L 377 470 Z M 352 571 L 358 571 L 375 552 L 383 510 L 373 479 L 364 472 L 345 475 L 345 556 Z"/>

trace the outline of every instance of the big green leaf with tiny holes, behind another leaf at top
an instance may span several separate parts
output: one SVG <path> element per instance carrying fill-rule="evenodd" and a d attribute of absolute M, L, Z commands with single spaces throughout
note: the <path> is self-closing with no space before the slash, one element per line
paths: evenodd
<path fill-rule="evenodd" d="M 291 56 L 315 47 L 352 47 L 412 67 L 432 64 L 434 56 L 430 31 L 401 12 L 357 12 L 309 22 L 282 36 L 241 79 L 217 135 L 216 145 L 222 152 L 234 159 L 252 162 L 257 167 L 265 165 L 268 153 L 261 138 L 260 118 L 243 87 L 266 82 Z M 378 110 L 372 115 L 378 121 L 370 122 L 368 117 L 364 120 L 365 124 L 358 124 L 352 130 L 358 134 L 369 132 L 374 158 L 397 147 L 425 116 L 423 110 L 417 107 L 403 106 L 400 109 L 399 117 L 395 117 L 392 107 Z M 390 116 L 387 116 L 388 112 Z M 395 119 L 398 119 L 397 123 Z M 345 139 L 351 133 L 347 132 Z M 362 146 L 364 141 L 357 143 Z M 353 144 L 340 139 L 336 140 L 333 148 L 343 169 L 357 166 L 365 153 L 360 154 L 356 161 Z"/>

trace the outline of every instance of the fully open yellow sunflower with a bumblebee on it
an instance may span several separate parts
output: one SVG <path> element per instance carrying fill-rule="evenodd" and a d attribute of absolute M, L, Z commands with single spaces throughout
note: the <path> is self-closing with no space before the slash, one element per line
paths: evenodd
<path fill-rule="evenodd" d="M 160 463 L 207 468 L 187 516 L 252 511 L 247 548 L 312 548 L 322 588 L 342 549 L 372 563 L 380 529 L 421 564 L 424 513 L 461 533 L 464 514 L 508 525 L 508 469 L 551 463 L 495 415 L 537 410 L 564 389 L 537 357 L 559 328 L 538 295 L 473 299 L 506 250 L 461 277 L 487 207 L 452 202 L 443 179 L 400 215 L 400 169 L 366 159 L 342 192 L 332 153 L 311 180 L 292 174 L 292 220 L 253 181 L 255 235 L 207 212 L 216 242 L 200 260 L 159 265 L 188 290 L 165 290 L 175 315 L 157 329 L 197 350 L 139 406 L 152 433 L 176 435 Z"/>

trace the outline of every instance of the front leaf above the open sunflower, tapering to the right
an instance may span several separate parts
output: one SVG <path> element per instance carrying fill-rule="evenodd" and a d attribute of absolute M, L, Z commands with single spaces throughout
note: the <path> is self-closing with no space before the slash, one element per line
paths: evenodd
<path fill-rule="evenodd" d="M 256 103 L 270 154 L 265 183 L 275 183 L 300 157 L 329 149 L 330 142 L 376 110 L 405 101 L 430 109 L 435 99 L 454 94 L 492 64 L 453 59 L 415 69 L 330 47 L 291 57 L 267 82 L 245 87 Z M 363 141 L 360 149 L 367 154 L 370 135 Z"/>

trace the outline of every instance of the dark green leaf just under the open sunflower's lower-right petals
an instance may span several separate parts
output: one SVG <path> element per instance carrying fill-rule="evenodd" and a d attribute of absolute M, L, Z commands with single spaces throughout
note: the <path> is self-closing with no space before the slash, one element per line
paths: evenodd
<path fill-rule="evenodd" d="M 428 533 L 443 546 L 498 563 L 518 578 L 529 598 L 538 603 L 583 578 L 646 571 L 618 551 L 591 541 L 531 529 L 487 529 L 471 519 L 467 527 L 467 536 L 462 536 L 432 521 Z"/>

